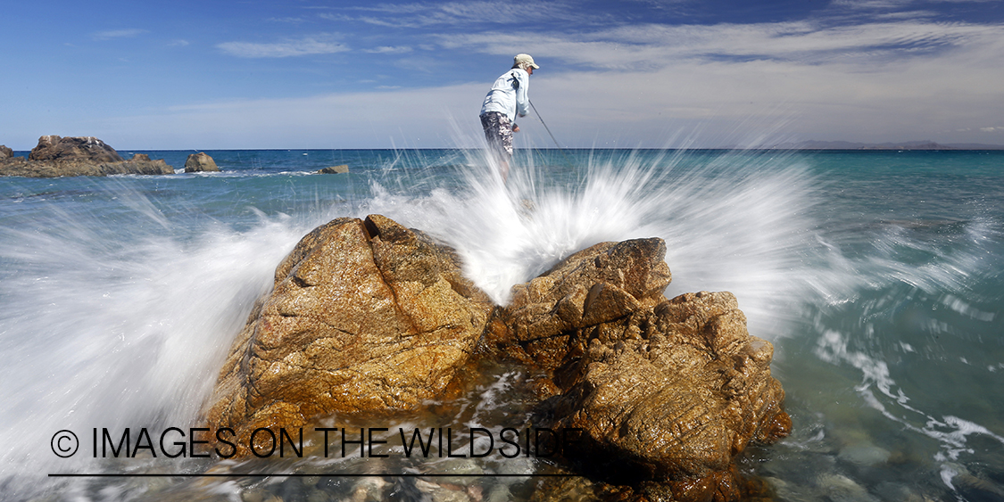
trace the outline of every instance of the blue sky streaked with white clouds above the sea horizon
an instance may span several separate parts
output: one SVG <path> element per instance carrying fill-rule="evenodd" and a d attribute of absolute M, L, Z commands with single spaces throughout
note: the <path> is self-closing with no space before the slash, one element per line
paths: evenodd
<path fill-rule="evenodd" d="M 452 148 L 518 52 L 570 147 L 1004 145 L 1004 0 L 16 2 L 0 144 Z M 517 146 L 553 147 L 523 118 Z"/>

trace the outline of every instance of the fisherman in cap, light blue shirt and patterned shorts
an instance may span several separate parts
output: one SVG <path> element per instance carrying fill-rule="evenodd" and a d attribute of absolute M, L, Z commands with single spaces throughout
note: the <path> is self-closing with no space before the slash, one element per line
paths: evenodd
<path fill-rule="evenodd" d="M 539 68 L 530 54 L 516 54 L 512 68 L 495 80 L 492 89 L 481 105 L 481 127 L 485 130 L 488 147 L 499 162 L 502 183 L 509 176 L 509 162 L 512 160 L 512 134 L 519 133 L 515 124 L 516 115 L 529 113 L 530 98 L 527 87 L 530 75 Z"/>

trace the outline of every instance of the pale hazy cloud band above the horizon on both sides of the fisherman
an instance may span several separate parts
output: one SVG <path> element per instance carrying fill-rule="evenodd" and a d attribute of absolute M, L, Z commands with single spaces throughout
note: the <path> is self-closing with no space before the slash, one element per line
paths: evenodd
<path fill-rule="evenodd" d="M 936 134 L 999 123 L 1004 65 L 973 70 L 968 60 L 974 57 L 986 55 L 936 54 L 888 68 L 847 61 L 688 59 L 646 71 L 551 74 L 542 69 L 531 78 L 530 94 L 563 146 L 679 146 L 669 143 L 676 136 L 692 142 L 689 146 L 720 147 L 742 143 L 751 134 L 866 143 L 929 138 L 1004 143 L 1004 128 L 996 126 Z M 480 138 L 477 112 L 488 85 L 382 86 L 369 92 L 176 106 L 157 116 L 122 118 L 116 127 L 135 124 L 148 135 L 163 133 L 167 140 L 184 131 L 218 148 L 388 148 L 392 142 L 472 147 Z M 533 119 L 521 126 L 517 146 L 551 145 Z"/>

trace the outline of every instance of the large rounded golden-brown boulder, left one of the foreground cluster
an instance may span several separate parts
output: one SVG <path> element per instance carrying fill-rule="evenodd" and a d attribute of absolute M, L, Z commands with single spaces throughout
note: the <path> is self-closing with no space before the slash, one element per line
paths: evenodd
<path fill-rule="evenodd" d="M 449 248 L 379 215 L 333 220 L 276 268 L 209 422 L 246 439 L 321 414 L 418 410 L 467 362 L 491 308 Z"/>

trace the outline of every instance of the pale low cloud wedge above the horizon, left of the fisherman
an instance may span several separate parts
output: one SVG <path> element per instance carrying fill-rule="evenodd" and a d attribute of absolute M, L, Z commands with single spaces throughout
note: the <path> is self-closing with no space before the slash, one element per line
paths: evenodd
<path fill-rule="evenodd" d="M 302 98 L 237 100 L 172 106 L 156 114 L 105 120 L 107 128 L 142 132 L 166 145 L 218 148 L 433 148 L 451 146 L 449 115 L 468 121 L 470 96 L 480 84 L 421 89 L 374 89 Z M 483 94 L 482 94 L 483 96 Z M 478 101 L 480 106 L 480 98 Z M 483 138 L 478 124 L 478 136 Z M 119 143 L 131 143 L 126 138 Z M 136 142 L 133 142 L 136 143 Z"/>

